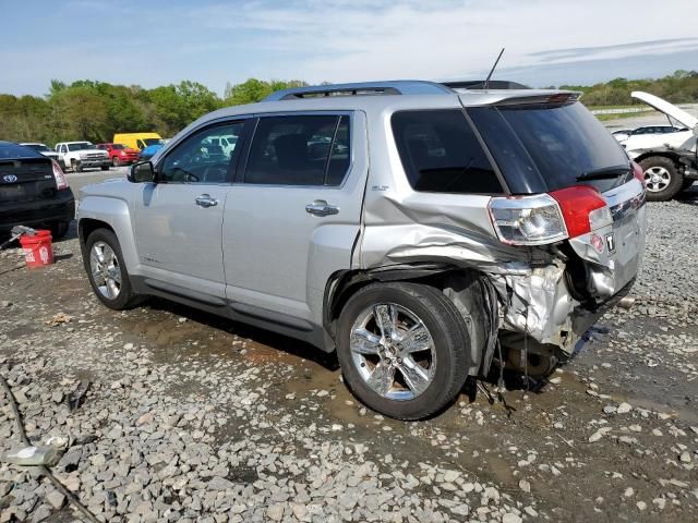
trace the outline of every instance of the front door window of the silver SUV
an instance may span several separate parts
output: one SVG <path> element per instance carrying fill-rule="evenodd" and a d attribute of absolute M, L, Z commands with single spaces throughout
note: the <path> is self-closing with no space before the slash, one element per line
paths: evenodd
<path fill-rule="evenodd" d="M 222 147 L 220 137 L 242 133 L 243 122 L 207 127 L 190 135 L 169 153 L 158 169 L 166 183 L 225 183 L 238 149 Z"/>

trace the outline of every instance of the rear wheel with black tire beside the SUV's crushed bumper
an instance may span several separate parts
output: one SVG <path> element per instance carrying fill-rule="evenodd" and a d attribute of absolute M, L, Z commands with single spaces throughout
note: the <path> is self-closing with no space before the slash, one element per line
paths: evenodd
<path fill-rule="evenodd" d="M 456 306 L 429 285 L 375 283 L 345 305 L 337 356 L 345 382 L 374 411 L 429 417 L 456 398 L 470 368 L 471 340 Z"/>

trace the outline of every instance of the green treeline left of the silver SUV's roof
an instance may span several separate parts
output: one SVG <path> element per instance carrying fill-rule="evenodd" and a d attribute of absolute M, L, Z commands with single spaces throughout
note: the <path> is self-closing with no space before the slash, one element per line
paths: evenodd
<path fill-rule="evenodd" d="M 226 106 L 258 101 L 270 93 L 306 85 L 250 78 L 228 85 L 224 99 L 198 82 L 144 89 L 81 80 L 51 81 L 45 97 L 0 94 L 0 139 L 109 142 L 116 133 L 155 131 L 172 136 L 197 118 Z"/>

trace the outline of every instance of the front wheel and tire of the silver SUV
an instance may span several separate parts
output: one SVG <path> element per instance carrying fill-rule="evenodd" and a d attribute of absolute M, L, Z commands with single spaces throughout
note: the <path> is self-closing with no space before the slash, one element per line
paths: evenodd
<path fill-rule="evenodd" d="M 133 292 L 121 246 L 113 232 L 97 229 L 87 238 L 83 263 L 89 284 L 99 301 L 113 311 L 131 308 L 139 301 Z"/>

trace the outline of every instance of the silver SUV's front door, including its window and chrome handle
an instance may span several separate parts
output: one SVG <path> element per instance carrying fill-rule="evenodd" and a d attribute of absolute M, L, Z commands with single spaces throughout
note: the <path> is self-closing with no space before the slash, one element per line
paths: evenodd
<path fill-rule="evenodd" d="M 207 144 L 240 133 L 243 125 L 237 120 L 194 131 L 158 160 L 156 182 L 143 184 L 134 229 L 151 287 L 222 303 L 220 235 L 237 156 L 212 151 Z"/>

